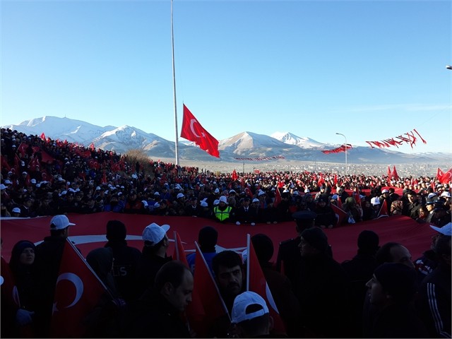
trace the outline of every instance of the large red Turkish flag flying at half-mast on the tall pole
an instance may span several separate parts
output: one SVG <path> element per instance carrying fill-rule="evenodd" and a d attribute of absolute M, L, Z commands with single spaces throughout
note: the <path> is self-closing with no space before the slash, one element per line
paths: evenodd
<path fill-rule="evenodd" d="M 201 150 L 205 150 L 213 157 L 220 157 L 220 153 L 218 152 L 218 140 L 211 136 L 210 133 L 199 124 L 198 119 L 191 114 L 185 105 L 181 137 L 193 141 L 201 148 Z"/>

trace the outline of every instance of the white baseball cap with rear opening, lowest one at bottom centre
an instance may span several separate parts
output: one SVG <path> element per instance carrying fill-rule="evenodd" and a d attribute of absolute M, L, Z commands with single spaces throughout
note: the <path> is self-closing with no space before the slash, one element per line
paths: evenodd
<path fill-rule="evenodd" d="M 246 313 L 246 308 L 254 304 L 258 304 L 262 308 L 251 313 Z M 237 297 L 235 297 L 234 299 L 234 306 L 232 306 L 231 313 L 231 322 L 241 323 L 242 321 L 251 320 L 268 313 L 268 307 L 263 297 L 255 292 L 246 291 L 240 295 L 237 295 Z"/>

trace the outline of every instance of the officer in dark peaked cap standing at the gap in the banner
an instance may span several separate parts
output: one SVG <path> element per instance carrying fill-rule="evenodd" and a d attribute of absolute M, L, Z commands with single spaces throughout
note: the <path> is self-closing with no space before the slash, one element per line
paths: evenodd
<path fill-rule="evenodd" d="M 280 242 L 276 267 L 279 272 L 284 273 L 290 279 L 292 286 L 295 286 L 299 275 L 301 255 L 298 245 L 301 234 L 307 228 L 314 226 L 316 216 L 316 213 L 311 210 L 299 210 L 293 213 L 292 218 L 295 220 L 297 237 Z"/>

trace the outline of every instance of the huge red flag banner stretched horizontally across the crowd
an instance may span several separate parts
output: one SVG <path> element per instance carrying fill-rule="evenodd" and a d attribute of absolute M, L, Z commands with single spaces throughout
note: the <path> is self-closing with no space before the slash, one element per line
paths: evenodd
<path fill-rule="evenodd" d="M 184 240 L 186 252 L 194 251 L 198 232 L 204 226 L 213 226 L 218 230 L 218 251 L 232 249 L 242 252 L 246 249 L 246 234 L 267 234 L 273 240 L 276 260 L 279 243 L 283 240 L 297 237 L 295 222 L 279 222 L 278 225 L 258 223 L 255 226 L 221 224 L 206 218 L 167 217 L 160 215 L 131 215 L 123 213 L 102 212 L 94 214 L 69 214 L 68 218 L 75 226 L 69 229 L 69 238 L 85 257 L 92 249 L 104 246 L 106 225 L 109 220 L 120 220 L 127 228 L 127 243 L 137 249 L 143 249 L 141 234 L 144 227 L 152 222 L 158 225 L 167 224 L 173 231 L 177 231 L 180 239 Z M 40 218 L 1 218 L 1 238 L 3 249 L 1 255 L 9 261 L 11 249 L 22 239 L 28 239 L 35 244 L 49 235 L 49 224 L 52 217 Z M 388 218 L 357 222 L 353 225 L 340 225 L 331 230 L 325 230 L 328 242 L 333 248 L 336 261 L 344 261 L 355 256 L 357 251 L 357 237 L 362 230 L 373 230 L 380 237 L 380 244 L 385 242 L 401 242 L 411 252 L 413 258 L 421 256 L 422 252 L 430 248 L 430 241 L 435 231 L 429 224 L 419 224 L 403 215 L 393 215 Z M 170 243 L 169 254 L 174 251 L 174 242 Z"/>

